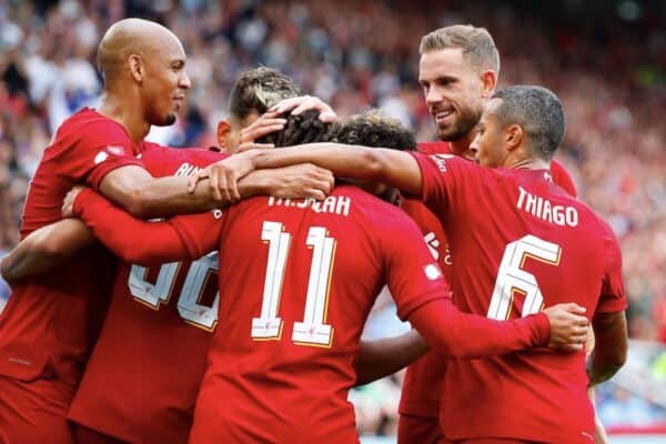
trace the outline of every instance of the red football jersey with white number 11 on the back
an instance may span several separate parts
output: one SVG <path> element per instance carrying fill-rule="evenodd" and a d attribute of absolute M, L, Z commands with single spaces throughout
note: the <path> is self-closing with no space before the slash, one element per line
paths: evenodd
<path fill-rule="evenodd" d="M 548 339 L 545 315 L 500 323 L 456 312 L 414 222 L 353 186 L 322 202 L 256 198 L 222 223 L 219 211 L 139 221 L 92 191 L 79 194 L 74 212 L 112 251 L 132 250 L 133 260 L 199 258 L 220 244 L 220 263 L 230 266 L 220 273 L 220 323 L 191 442 L 355 441 L 346 392 L 385 280 L 401 317 L 414 313 L 424 335 L 454 355 L 506 353 Z M 405 252 L 405 244 L 414 248 Z"/>

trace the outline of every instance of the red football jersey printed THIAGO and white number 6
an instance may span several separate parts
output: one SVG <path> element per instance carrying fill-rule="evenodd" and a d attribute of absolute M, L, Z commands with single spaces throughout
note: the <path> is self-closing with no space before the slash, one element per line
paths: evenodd
<path fill-rule="evenodd" d="M 622 259 L 609 226 L 553 184 L 545 170 L 491 170 L 415 154 L 423 199 L 443 221 L 455 305 L 492 319 L 577 302 L 626 309 Z M 447 363 L 441 424 L 451 440 L 594 441 L 585 354 L 549 350 Z M 471 420 L 473 418 L 473 420 Z"/>

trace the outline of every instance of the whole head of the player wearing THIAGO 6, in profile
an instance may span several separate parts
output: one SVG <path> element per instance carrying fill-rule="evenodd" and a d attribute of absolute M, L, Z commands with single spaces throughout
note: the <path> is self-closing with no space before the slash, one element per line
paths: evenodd
<path fill-rule="evenodd" d="M 486 103 L 470 148 L 486 167 L 505 165 L 516 155 L 549 162 L 564 131 L 557 95 L 542 87 L 515 85 L 495 92 Z"/>

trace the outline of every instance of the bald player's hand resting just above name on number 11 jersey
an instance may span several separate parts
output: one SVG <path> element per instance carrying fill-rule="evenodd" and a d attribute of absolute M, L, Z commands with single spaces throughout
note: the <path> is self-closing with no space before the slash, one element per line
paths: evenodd
<path fill-rule="evenodd" d="M 335 183 L 333 173 L 312 163 L 284 167 L 273 170 L 280 178 L 271 195 L 282 199 L 325 199 Z"/>

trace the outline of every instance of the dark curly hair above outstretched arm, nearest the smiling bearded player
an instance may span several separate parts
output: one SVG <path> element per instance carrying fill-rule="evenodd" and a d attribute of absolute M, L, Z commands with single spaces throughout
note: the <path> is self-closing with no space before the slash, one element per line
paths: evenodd
<path fill-rule="evenodd" d="M 416 150 L 414 133 L 400 120 L 382 114 L 379 110 L 369 110 L 349 118 L 340 128 L 337 141 L 351 145 Z"/>

